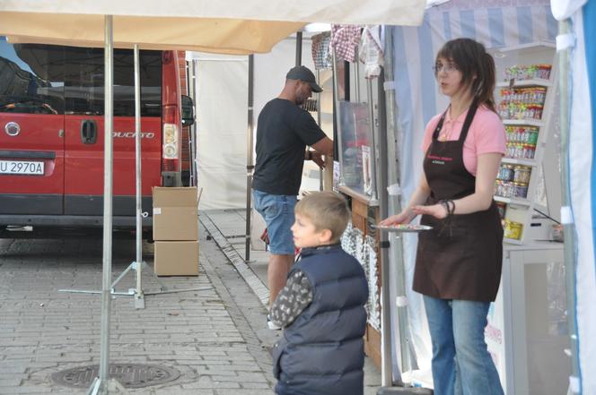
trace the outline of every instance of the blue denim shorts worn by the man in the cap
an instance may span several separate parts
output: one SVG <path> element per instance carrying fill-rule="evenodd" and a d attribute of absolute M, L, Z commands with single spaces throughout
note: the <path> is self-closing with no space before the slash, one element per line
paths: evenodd
<path fill-rule="evenodd" d="M 269 251 L 276 255 L 294 255 L 294 207 L 296 196 L 252 190 L 255 210 L 267 223 Z"/>

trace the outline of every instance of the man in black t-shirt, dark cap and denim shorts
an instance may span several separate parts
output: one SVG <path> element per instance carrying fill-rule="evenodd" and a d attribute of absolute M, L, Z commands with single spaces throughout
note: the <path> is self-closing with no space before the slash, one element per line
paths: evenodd
<path fill-rule="evenodd" d="M 259 114 L 257 164 L 252 180 L 255 209 L 267 223 L 269 305 L 284 288 L 294 262 L 294 205 L 302 180 L 304 160 L 324 166 L 321 155 L 333 155 L 333 141 L 320 130 L 302 103 L 320 92 L 314 74 L 295 66 L 285 76 L 285 86 Z M 311 146 L 313 150 L 305 150 Z M 271 327 L 271 325 L 270 325 Z"/>

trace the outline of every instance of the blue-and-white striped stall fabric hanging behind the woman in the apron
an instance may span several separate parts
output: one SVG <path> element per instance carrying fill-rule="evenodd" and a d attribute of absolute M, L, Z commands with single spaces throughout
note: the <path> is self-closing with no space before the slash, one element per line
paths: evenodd
<path fill-rule="evenodd" d="M 426 123 L 448 104 L 436 87 L 434 55 L 449 39 L 478 39 L 488 48 L 512 47 L 530 42 L 554 42 L 557 23 L 548 0 L 515 2 L 495 7 L 491 0 L 460 0 L 435 6 L 425 13 L 418 28 L 392 27 L 394 72 L 399 135 L 402 207 L 408 203 L 421 176 L 422 137 Z M 397 124 L 396 124 L 397 125 Z M 390 180 L 390 184 L 395 180 Z M 406 234 L 404 261 L 406 284 L 411 284 L 416 259 L 417 236 Z M 412 343 L 421 370 L 430 367 L 431 345 L 422 297 L 408 289 L 408 318 Z M 391 318 L 397 322 L 397 317 Z"/>

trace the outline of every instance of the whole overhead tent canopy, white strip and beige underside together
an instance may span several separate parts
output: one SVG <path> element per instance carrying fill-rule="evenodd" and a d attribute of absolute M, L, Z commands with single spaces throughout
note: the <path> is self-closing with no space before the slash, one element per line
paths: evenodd
<path fill-rule="evenodd" d="M 113 15 L 114 47 L 243 55 L 271 50 L 307 22 L 417 25 L 425 0 L 3 0 L 0 35 L 12 42 L 103 47 Z"/>

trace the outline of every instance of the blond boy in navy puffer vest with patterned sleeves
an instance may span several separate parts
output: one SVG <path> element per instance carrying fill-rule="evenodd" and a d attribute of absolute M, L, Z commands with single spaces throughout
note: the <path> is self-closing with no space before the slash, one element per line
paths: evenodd
<path fill-rule="evenodd" d="M 302 252 L 270 316 L 284 328 L 273 353 L 278 395 L 362 395 L 368 285 L 342 250 L 350 218 L 337 193 L 311 193 L 295 208 L 294 244 Z"/>

